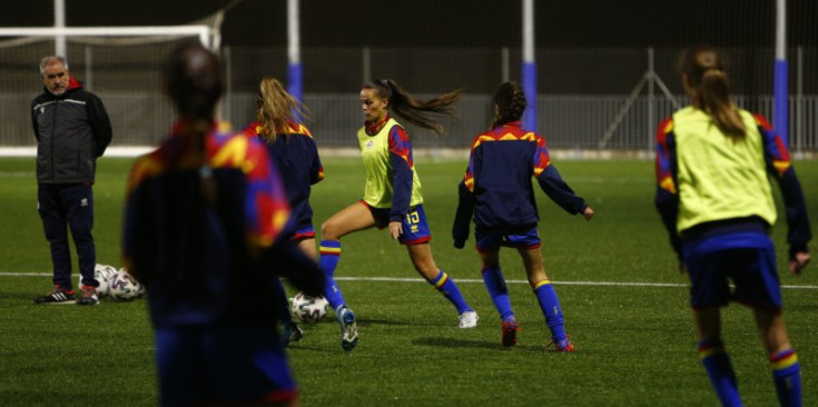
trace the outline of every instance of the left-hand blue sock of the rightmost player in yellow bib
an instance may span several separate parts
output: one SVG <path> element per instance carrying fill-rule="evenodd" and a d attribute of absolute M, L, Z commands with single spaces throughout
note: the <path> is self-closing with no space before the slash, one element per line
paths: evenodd
<path fill-rule="evenodd" d="M 736 373 L 730 365 L 730 357 L 725 345 L 719 340 L 702 339 L 699 341 L 699 358 L 704 365 L 710 384 L 722 406 L 741 406 Z"/>

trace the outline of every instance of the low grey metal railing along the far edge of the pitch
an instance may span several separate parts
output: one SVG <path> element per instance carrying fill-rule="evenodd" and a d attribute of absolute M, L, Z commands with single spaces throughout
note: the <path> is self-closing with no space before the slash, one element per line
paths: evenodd
<path fill-rule="evenodd" d="M 114 146 L 150 146 L 167 132 L 174 113 L 157 92 L 99 92 L 115 130 Z M 234 127 L 254 119 L 254 93 L 231 93 L 221 110 Z M 420 95 L 423 98 L 424 95 Z M 33 146 L 30 95 L 0 93 L 0 146 Z M 466 95 L 455 108 L 456 118 L 442 118 L 446 133 L 436 137 L 428 130 L 407 125 L 417 148 L 467 148 L 474 136 L 491 122 L 491 96 Z M 739 106 L 743 98 L 736 98 Z M 630 108 L 623 110 L 630 103 Z M 307 126 L 321 147 L 356 147 L 355 133 L 362 126 L 357 95 L 306 95 Z M 670 116 L 686 98 L 628 96 L 540 96 L 538 127 L 551 148 L 649 150 L 657 125 Z M 772 98 L 753 98 L 757 111 L 770 118 Z M 818 150 L 818 97 L 790 98 L 790 148 Z M 621 118 L 621 120 L 617 120 Z"/>

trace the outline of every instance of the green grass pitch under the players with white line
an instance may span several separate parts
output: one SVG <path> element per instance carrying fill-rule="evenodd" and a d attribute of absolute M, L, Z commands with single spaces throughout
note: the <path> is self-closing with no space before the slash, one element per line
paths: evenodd
<path fill-rule="evenodd" d="M 556 160 L 565 180 L 597 210 L 591 222 L 564 214 L 538 192 L 542 252 L 576 345 L 571 355 L 545 347 L 548 328 L 512 251 L 503 254 L 503 271 L 512 280 L 522 332 L 515 348 L 501 349 L 499 318 L 480 280 L 474 240 L 455 250 L 450 237 L 465 162 L 417 161 L 435 260 L 460 281 L 480 325 L 459 329 L 453 307 L 420 281 L 405 249 L 385 231 L 345 237 L 336 276 L 358 315 L 359 345 L 344 354 L 337 325 L 329 319 L 305 327 L 304 339 L 288 350 L 304 406 L 717 405 L 696 354 L 686 279 L 676 271 L 653 209 L 651 161 Z M 98 262 L 117 267 L 130 162 L 100 160 L 95 187 Z M 818 230 L 818 162 L 798 161 L 796 167 Z M 32 158 L 0 160 L 0 405 L 156 405 L 145 300 L 104 298 L 91 308 L 32 304 L 50 288 L 33 168 Z M 326 179 L 313 192 L 316 227 L 363 190 L 359 160 L 329 158 L 325 170 Z M 781 270 L 785 235 L 779 219 L 775 238 Z M 800 278 L 782 275 L 781 281 L 802 367 L 804 404 L 815 406 L 818 272 L 810 266 Z M 729 307 L 725 326 L 745 403 L 776 405 L 750 312 Z"/>

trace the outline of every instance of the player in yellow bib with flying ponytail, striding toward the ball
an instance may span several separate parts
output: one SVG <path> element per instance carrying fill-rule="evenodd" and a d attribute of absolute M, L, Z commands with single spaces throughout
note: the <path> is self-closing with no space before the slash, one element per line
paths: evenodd
<path fill-rule="evenodd" d="M 428 241 L 432 234 L 423 211 L 421 181 L 412 159 L 412 143 L 406 130 L 392 116 L 441 133 L 443 127 L 428 113 L 450 115 L 459 91 L 432 100 L 414 99 L 391 79 L 380 79 L 361 89 L 361 108 L 366 118 L 358 130 L 361 155 L 366 168 L 364 198 L 327 219 L 321 227 L 321 267 L 326 275 L 325 296 L 336 309 L 341 324 L 342 347 L 352 350 L 357 344 L 355 314 L 333 278 L 341 257 L 341 238 L 374 226 L 388 228 L 390 236 L 406 246 L 415 270 L 457 309 L 461 328 L 477 325 L 477 314 L 466 304 L 454 280 L 438 269 Z"/>

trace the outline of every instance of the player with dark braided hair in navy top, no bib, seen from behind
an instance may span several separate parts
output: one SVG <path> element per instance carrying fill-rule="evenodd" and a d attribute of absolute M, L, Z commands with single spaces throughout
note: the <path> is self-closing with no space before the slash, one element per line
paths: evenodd
<path fill-rule="evenodd" d="M 591 220 L 593 209 L 574 195 L 551 165 L 545 139 L 521 127 L 520 118 L 528 106 L 522 88 L 514 82 L 502 83 L 492 105 L 492 129 L 474 138 L 469 168 L 460 182 L 460 202 L 452 227 L 454 246 L 463 248 L 465 245 L 473 217 L 477 252 L 483 261 L 481 272 L 503 321 L 501 341 L 504 347 L 516 344 L 520 328 L 500 268 L 501 246 L 516 248 L 522 256 L 529 284 L 540 301 L 556 350 L 573 351 L 556 291 L 542 266 L 536 229 L 540 218 L 531 177 L 534 176 L 540 188 L 569 214 L 582 214 L 585 220 Z"/>

